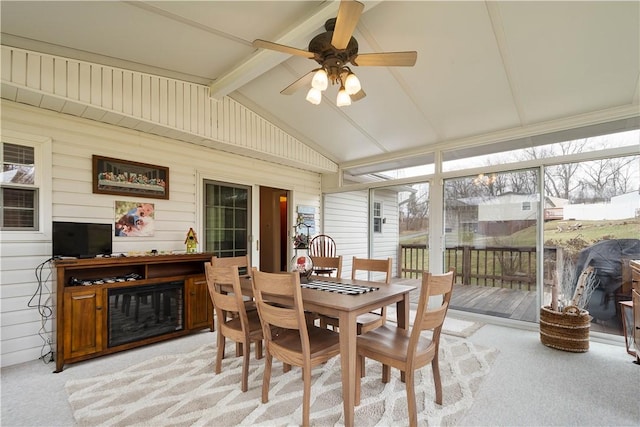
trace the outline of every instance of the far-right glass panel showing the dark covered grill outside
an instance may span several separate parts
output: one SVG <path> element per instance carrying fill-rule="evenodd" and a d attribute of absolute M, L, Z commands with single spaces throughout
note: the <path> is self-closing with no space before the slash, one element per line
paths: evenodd
<path fill-rule="evenodd" d="M 570 149 L 576 142 L 568 145 Z M 545 168 L 544 295 L 555 284 L 560 306 L 587 284 L 591 331 L 622 334 L 620 302 L 631 299 L 630 259 L 640 258 L 640 156 Z"/>

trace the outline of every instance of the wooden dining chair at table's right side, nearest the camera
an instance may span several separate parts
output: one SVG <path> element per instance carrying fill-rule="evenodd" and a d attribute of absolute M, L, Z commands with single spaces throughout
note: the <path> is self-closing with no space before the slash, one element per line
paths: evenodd
<path fill-rule="evenodd" d="M 391 367 L 399 369 L 404 374 L 409 406 L 409 425 L 411 427 L 418 425 L 414 374 L 417 369 L 429 363 L 431 363 L 436 389 L 435 401 L 442 405 L 438 351 L 442 325 L 449 309 L 454 280 L 454 269 L 445 274 L 425 272 L 422 275 L 418 308 L 410 331 L 392 325 L 390 322 L 357 337 L 356 405 L 360 404 L 361 369 L 364 366 L 365 358 L 374 359 L 383 364 L 383 383 L 389 382 Z M 430 308 L 430 300 L 438 296 L 442 297 L 441 303 L 436 303 L 435 307 Z M 431 336 L 423 336 L 422 331 L 431 331 Z"/>

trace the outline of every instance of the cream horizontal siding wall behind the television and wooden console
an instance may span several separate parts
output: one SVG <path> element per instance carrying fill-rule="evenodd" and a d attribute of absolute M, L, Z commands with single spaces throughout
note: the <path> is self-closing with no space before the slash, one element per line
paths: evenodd
<path fill-rule="evenodd" d="M 93 194 L 93 154 L 169 167 L 170 199 L 144 199 L 155 204 L 155 235 L 114 238 L 114 252 L 184 250 L 189 227 L 201 229 L 204 178 L 253 185 L 254 194 L 259 185 L 288 189 L 294 205 L 320 206 L 319 175 L 301 169 L 8 101 L 2 102 L 2 130 L 51 138 L 52 176 L 44 191 L 51 192 L 52 201 L 42 209 L 52 220 L 112 223 L 116 200 L 142 199 Z M 2 366 L 40 357 L 41 318 L 27 303 L 38 286 L 35 268 L 51 256 L 50 220 L 42 225 L 42 233 L 3 233 L 0 238 Z M 55 289 L 51 280 L 46 286 Z M 45 329 L 51 337 L 52 325 Z"/>

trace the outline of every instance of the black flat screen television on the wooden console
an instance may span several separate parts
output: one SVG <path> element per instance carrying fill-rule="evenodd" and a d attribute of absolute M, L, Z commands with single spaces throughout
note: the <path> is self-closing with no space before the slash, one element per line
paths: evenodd
<path fill-rule="evenodd" d="M 53 222 L 53 256 L 95 258 L 111 255 L 111 224 Z"/>

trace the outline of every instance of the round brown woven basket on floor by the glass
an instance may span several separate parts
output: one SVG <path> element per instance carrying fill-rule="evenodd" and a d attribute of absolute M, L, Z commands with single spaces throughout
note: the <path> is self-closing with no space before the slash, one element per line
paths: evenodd
<path fill-rule="evenodd" d="M 584 353 L 589 350 L 591 316 L 578 307 L 565 307 L 563 312 L 551 307 L 540 308 L 540 341 L 558 350 Z"/>

